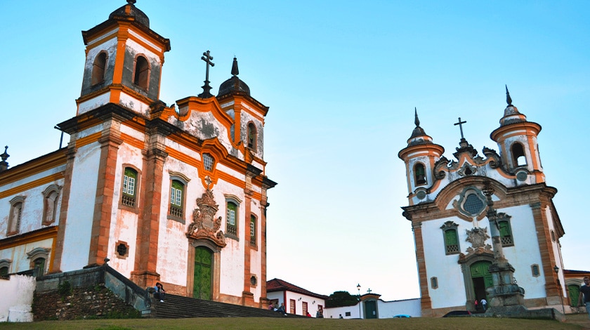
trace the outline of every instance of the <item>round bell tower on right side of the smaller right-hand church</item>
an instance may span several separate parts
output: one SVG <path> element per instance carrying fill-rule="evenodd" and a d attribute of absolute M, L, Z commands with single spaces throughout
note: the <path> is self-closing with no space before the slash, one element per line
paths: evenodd
<path fill-rule="evenodd" d="M 500 119 L 500 127 L 496 128 L 490 138 L 499 147 L 504 169 L 516 175 L 519 183 L 544 183 L 545 175 L 539 156 L 537 135 L 541 125 L 527 121 L 524 114 L 512 105 L 512 98 L 506 87 L 506 109 L 504 117 Z"/>

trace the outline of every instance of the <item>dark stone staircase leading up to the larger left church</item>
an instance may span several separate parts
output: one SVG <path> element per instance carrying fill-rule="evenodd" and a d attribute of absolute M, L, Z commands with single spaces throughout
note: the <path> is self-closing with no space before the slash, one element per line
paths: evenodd
<path fill-rule="evenodd" d="M 152 317 L 159 319 L 180 319 L 187 317 L 304 317 L 283 314 L 273 310 L 253 308 L 216 301 L 175 296 L 166 293 L 164 303 L 152 298 Z"/>

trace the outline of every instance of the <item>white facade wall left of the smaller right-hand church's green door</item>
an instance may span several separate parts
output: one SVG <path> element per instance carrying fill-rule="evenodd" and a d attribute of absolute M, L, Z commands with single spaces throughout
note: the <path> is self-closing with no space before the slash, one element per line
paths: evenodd
<path fill-rule="evenodd" d="M 430 220 L 422 223 L 422 240 L 424 242 L 424 260 L 426 262 L 426 278 L 428 279 L 428 294 L 432 299 L 433 308 L 465 305 L 466 293 L 461 272 L 461 265 L 457 263 L 458 254 L 445 254 L 445 240 L 440 227 L 446 221 L 457 223 L 459 248 L 464 252 L 468 247 L 466 229 L 472 229 L 473 224 L 456 217 Z M 438 277 L 438 289 L 432 289 L 431 277 Z"/>

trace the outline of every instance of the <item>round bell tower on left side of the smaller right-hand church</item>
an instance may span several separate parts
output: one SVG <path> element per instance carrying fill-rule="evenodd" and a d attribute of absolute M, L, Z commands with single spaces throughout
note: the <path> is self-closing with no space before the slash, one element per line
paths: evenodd
<path fill-rule="evenodd" d="M 440 159 L 445 148 L 432 142 L 420 127 L 418 111 L 414 108 L 416 128 L 407 140 L 407 147 L 400 150 L 398 157 L 405 162 L 409 204 L 425 202 L 428 188 L 434 182 L 435 163 Z"/>

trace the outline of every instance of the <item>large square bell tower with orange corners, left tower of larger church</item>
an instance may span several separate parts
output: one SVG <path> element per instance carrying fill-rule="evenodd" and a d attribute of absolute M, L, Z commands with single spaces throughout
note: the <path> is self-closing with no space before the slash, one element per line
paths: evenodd
<path fill-rule="evenodd" d="M 135 3 L 127 0 L 108 20 L 82 32 L 86 63 L 77 114 L 115 103 L 147 115 L 159 99 L 170 40 L 150 29 L 150 19 Z"/>

